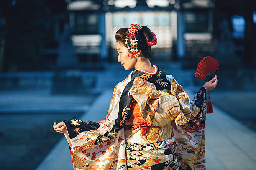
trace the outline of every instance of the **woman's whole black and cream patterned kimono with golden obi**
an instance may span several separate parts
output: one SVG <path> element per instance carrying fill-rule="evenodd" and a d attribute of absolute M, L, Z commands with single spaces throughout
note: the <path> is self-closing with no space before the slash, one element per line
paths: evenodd
<path fill-rule="evenodd" d="M 154 65 L 153 65 L 154 66 Z M 105 120 L 65 120 L 74 170 L 203 170 L 206 90 L 190 101 L 159 67 L 115 86 Z"/>

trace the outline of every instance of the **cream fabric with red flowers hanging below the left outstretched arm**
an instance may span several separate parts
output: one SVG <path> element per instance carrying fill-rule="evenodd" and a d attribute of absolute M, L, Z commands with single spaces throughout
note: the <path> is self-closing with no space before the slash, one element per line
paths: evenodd
<path fill-rule="evenodd" d="M 109 140 L 105 144 L 97 145 L 75 145 L 75 152 L 72 152 L 72 163 L 74 169 L 98 170 L 98 169 L 120 169 L 126 170 L 126 159 L 124 153 L 124 140 L 120 136 L 123 130 L 120 130 L 117 137 Z M 88 139 L 88 138 L 85 138 Z M 78 151 L 78 152 L 77 152 Z M 119 156 L 120 155 L 120 156 Z"/>

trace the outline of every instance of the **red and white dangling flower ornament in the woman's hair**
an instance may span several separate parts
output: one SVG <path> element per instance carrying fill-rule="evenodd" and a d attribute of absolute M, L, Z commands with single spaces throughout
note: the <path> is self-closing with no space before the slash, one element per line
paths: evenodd
<path fill-rule="evenodd" d="M 138 33 L 138 30 L 140 30 L 141 28 L 142 26 L 139 24 L 131 24 L 131 26 L 128 28 L 128 34 L 126 35 L 127 38 L 125 39 L 125 44 L 128 49 L 128 57 L 130 57 L 131 54 L 131 58 L 133 59 L 138 57 L 138 40 L 136 39 L 135 33 Z M 127 42 L 128 37 L 131 38 L 130 45 Z"/>

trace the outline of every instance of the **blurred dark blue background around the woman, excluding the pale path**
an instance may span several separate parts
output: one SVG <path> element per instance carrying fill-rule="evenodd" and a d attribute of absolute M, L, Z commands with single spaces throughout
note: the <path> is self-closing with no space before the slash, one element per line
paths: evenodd
<path fill-rule="evenodd" d="M 256 132 L 254 0 L 1 0 L 1 169 L 35 169 L 62 137 L 52 124 L 125 79 L 115 32 L 131 23 L 155 32 L 151 63 L 185 90 L 203 85 L 203 57 L 220 61 L 212 102 Z"/>

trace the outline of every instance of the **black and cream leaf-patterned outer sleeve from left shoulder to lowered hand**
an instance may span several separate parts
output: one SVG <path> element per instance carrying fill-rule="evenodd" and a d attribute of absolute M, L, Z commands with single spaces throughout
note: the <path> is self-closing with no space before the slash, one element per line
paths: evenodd
<path fill-rule="evenodd" d="M 74 153 L 94 148 L 116 137 L 130 116 L 131 95 L 129 95 L 129 90 L 131 85 L 130 74 L 124 81 L 115 86 L 105 120 L 98 123 L 82 120 L 64 121 Z"/>

